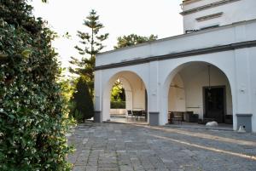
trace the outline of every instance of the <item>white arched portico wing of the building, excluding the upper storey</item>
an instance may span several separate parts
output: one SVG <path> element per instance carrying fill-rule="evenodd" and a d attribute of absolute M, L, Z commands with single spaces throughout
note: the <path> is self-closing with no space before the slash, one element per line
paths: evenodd
<path fill-rule="evenodd" d="M 256 132 L 255 29 L 256 20 L 243 21 L 98 54 L 95 121 L 108 121 L 112 82 L 128 71 L 147 89 L 150 125 L 168 123 L 168 111 L 193 111 L 220 123 L 229 115 L 234 130 Z M 214 112 L 206 94 L 222 94 Z"/>

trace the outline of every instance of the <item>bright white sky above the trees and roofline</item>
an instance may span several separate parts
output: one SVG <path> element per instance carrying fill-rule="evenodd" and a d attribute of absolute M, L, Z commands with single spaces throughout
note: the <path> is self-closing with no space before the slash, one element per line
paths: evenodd
<path fill-rule="evenodd" d="M 182 0 L 49 0 L 42 3 L 34 0 L 34 14 L 48 20 L 49 26 L 59 35 L 69 32 L 67 39 L 60 37 L 53 43 L 60 54 L 62 66 L 68 66 L 70 56 L 79 57 L 77 31 L 88 31 L 82 25 L 91 9 L 100 15 L 105 26 L 102 33 L 109 33 L 103 51 L 113 49 L 119 36 L 135 33 L 140 36 L 158 35 L 159 38 L 172 37 L 183 33 L 180 3 Z"/>

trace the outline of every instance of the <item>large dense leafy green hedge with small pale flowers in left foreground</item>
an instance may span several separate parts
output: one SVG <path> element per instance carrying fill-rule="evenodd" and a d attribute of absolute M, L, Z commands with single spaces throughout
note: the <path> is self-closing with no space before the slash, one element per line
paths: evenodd
<path fill-rule="evenodd" d="M 0 170 L 68 170 L 55 34 L 26 0 L 0 0 L 0 16 Z"/>

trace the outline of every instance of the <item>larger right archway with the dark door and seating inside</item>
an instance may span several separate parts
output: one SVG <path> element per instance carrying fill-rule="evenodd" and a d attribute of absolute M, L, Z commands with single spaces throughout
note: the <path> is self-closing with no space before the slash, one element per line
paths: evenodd
<path fill-rule="evenodd" d="M 172 113 L 172 117 L 181 115 L 186 122 L 196 123 L 233 123 L 230 81 L 218 66 L 204 61 L 184 63 L 172 70 L 166 85 L 166 113 Z M 191 113 L 199 120 L 186 118 Z M 172 121 L 170 116 L 167 119 Z"/>

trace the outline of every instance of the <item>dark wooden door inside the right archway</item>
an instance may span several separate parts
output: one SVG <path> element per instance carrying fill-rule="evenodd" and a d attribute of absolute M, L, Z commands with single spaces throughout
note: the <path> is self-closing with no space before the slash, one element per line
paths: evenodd
<path fill-rule="evenodd" d="M 224 123 L 224 88 L 204 88 L 205 117 Z"/>

